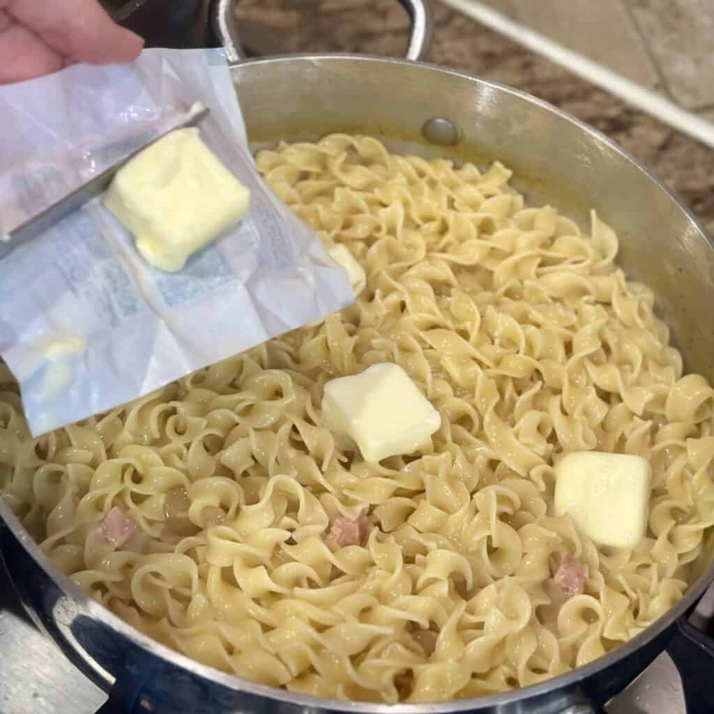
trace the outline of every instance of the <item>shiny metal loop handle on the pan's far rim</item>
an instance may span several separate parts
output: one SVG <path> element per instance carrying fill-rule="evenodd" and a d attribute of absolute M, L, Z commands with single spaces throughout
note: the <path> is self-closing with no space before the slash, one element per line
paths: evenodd
<path fill-rule="evenodd" d="M 399 0 L 411 17 L 411 35 L 406 59 L 417 62 L 424 59 L 431 44 L 433 20 L 431 8 L 425 0 Z M 238 0 L 216 0 L 213 6 L 213 29 L 226 51 L 230 64 L 246 59 L 241 35 L 236 22 Z"/>

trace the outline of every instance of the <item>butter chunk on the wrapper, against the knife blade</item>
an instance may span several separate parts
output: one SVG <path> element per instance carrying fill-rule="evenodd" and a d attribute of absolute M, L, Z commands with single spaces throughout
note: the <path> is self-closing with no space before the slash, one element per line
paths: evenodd
<path fill-rule="evenodd" d="M 148 263 L 176 272 L 245 215 L 250 198 L 190 128 L 166 134 L 122 166 L 104 203 L 134 233 Z"/>

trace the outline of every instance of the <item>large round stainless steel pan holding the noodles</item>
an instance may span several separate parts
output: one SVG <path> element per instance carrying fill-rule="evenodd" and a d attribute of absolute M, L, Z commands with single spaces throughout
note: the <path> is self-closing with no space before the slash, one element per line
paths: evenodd
<path fill-rule="evenodd" d="M 657 291 L 660 310 L 688 369 L 714 378 L 714 248 L 676 198 L 630 156 L 543 101 L 410 61 L 421 58 L 428 44 L 431 25 L 421 0 L 403 2 L 413 18 L 410 59 L 403 61 L 337 55 L 243 61 L 233 4 L 218 1 L 216 29 L 233 63 L 255 148 L 279 139 L 350 131 L 381 136 L 395 149 L 425 155 L 498 157 L 516 169 L 521 188 L 533 200 L 548 199 L 576 219 L 594 206 L 617 228 L 625 270 Z M 0 528 L 1 550 L 26 608 L 64 653 L 111 693 L 106 711 L 592 714 L 673 637 L 685 656 L 705 657 L 708 646 L 687 624 L 685 614 L 714 579 L 714 566 L 670 613 L 637 638 L 540 685 L 433 705 L 311 698 L 220 673 L 137 633 L 64 578 L 1 502 L 0 518 L 5 525 Z"/>

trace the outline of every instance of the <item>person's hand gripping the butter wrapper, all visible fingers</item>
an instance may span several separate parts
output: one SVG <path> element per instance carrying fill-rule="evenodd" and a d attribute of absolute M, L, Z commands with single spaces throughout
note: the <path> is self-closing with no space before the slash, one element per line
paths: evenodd
<path fill-rule="evenodd" d="M 75 62 L 131 62 L 143 46 L 96 0 L 0 0 L 0 84 Z"/>

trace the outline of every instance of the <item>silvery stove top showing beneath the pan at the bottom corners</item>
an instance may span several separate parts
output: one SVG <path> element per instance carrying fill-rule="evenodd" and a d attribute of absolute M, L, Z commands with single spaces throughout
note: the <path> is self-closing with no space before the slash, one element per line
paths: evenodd
<path fill-rule="evenodd" d="M 690 621 L 714 627 L 714 585 Z M 79 673 L 26 616 L 0 560 L 0 714 L 91 714 L 106 695 Z M 608 714 L 688 712 L 677 668 L 661 654 L 607 706 Z"/>

